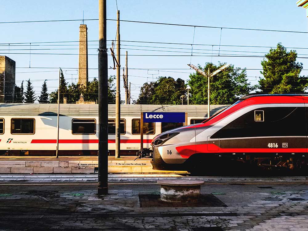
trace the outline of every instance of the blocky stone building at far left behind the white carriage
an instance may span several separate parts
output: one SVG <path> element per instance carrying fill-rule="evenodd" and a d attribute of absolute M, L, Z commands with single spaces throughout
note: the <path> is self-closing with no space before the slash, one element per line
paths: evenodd
<path fill-rule="evenodd" d="M 0 56 L 0 103 L 14 103 L 15 61 Z"/>

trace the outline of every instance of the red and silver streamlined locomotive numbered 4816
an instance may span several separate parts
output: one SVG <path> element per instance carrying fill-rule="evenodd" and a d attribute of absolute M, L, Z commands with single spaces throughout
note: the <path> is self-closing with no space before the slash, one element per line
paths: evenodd
<path fill-rule="evenodd" d="M 215 168 L 216 160 L 303 169 L 307 115 L 307 94 L 249 94 L 200 124 L 163 132 L 152 140 L 153 151 L 146 151 L 160 170 Z"/>

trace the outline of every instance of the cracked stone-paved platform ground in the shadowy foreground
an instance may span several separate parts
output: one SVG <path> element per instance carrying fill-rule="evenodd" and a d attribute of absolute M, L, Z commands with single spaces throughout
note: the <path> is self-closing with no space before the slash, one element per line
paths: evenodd
<path fill-rule="evenodd" d="M 96 187 L 95 183 L 2 182 L 0 230 L 193 231 L 217 226 L 233 231 L 308 231 L 308 183 L 303 181 L 201 186 L 204 195 L 223 194 L 214 196 L 227 207 L 140 207 L 139 194 L 159 192 L 154 182 L 110 183 L 107 196 L 97 196 Z"/>

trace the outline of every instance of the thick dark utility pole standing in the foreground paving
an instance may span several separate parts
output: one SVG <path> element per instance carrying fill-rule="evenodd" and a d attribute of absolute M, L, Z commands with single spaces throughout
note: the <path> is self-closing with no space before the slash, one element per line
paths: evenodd
<path fill-rule="evenodd" d="M 99 0 L 98 49 L 98 195 L 108 194 L 108 59 L 106 1 Z"/>

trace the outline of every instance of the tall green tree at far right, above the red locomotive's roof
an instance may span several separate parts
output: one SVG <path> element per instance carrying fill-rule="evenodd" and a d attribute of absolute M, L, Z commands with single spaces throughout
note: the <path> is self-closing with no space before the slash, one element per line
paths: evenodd
<path fill-rule="evenodd" d="M 288 52 L 281 43 L 277 48 L 270 49 L 261 61 L 263 71 L 260 71 L 264 79 L 259 80 L 262 93 L 301 93 L 308 87 L 308 79 L 300 76 L 303 64 L 296 62 L 297 53 L 294 50 Z"/>

